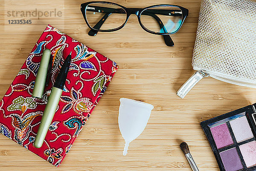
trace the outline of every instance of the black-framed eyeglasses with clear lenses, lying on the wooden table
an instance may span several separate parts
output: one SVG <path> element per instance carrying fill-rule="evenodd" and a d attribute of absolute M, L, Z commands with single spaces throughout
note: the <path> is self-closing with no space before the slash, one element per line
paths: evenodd
<path fill-rule="evenodd" d="M 137 15 L 140 26 L 154 35 L 163 35 L 167 46 L 174 46 L 169 35 L 181 28 L 189 10 L 176 5 L 154 5 L 145 8 L 126 8 L 117 3 L 92 1 L 81 4 L 84 20 L 91 29 L 88 35 L 122 29 L 131 14 Z"/>

